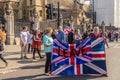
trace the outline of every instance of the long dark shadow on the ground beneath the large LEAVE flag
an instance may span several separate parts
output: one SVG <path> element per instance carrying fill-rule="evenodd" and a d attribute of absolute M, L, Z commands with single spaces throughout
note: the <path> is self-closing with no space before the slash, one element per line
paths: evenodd
<path fill-rule="evenodd" d="M 52 77 L 52 76 L 46 76 L 45 78 L 36 78 L 41 77 L 45 74 L 40 75 L 34 75 L 34 76 L 24 76 L 24 77 L 17 77 L 17 78 L 9 78 L 9 79 L 3 79 L 3 80 L 89 80 L 89 79 L 96 79 L 102 78 L 102 77 L 92 77 L 92 76 L 61 76 L 61 77 Z"/>

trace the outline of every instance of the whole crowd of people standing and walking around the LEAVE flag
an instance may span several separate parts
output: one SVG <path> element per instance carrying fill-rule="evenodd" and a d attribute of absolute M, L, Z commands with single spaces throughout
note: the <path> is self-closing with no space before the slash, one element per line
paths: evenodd
<path fill-rule="evenodd" d="M 106 32 L 102 34 L 99 30 L 99 27 L 94 27 L 91 31 L 86 31 L 82 33 L 79 29 L 73 29 L 70 27 L 66 27 L 63 29 L 62 26 L 59 26 L 58 29 L 52 29 L 48 27 L 41 32 L 40 30 L 28 31 L 28 27 L 23 27 L 23 30 L 20 32 L 20 45 L 21 45 L 21 55 L 20 59 L 28 59 L 27 53 L 33 53 L 33 60 L 36 60 L 35 54 L 36 52 L 39 55 L 39 58 L 44 58 L 41 55 L 41 45 L 44 45 L 44 53 L 46 55 L 46 63 L 45 63 L 45 73 L 48 75 L 50 70 L 51 63 L 51 54 L 52 54 L 52 44 L 53 40 L 57 39 L 61 42 L 74 44 L 80 43 L 86 38 L 99 38 L 104 37 L 105 43 L 107 44 L 106 38 L 109 41 L 112 41 L 114 34 L 114 38 L 118 41 L 118 32 Z M 2 32 L 0 27 L 0 58 L 5 62 L 6 66 L 8 65 L 7 61 L 3 58 L 2 53 L 4 51 L 3 44 L 5 42 L 5 34 Z M 107 44 L 108 46 L 108 44 Z M 2 48 L 3 47 L 3 48 Z"/>

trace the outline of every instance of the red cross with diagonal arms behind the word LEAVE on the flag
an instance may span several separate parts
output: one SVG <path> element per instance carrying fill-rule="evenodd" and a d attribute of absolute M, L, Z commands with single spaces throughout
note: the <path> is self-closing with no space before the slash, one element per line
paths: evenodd
<path fill-rule="evenodd" d="M 77 59 L 82 59 L 83 61 L 90 62 L 92 61 L 92 57 L 88 56 L 87 53 L 91 51 L 91 47 L 84 48 L 75 48 L 75 44 L 70 44 L 68 49 L 63 49 L 58 47 L 58 49 L 53 48 L 53 53 L 59 55 L 52 63 L 56 64 L 61 62 L 64 59 L 69 59 L 69 64 L 76 64 Z"/>

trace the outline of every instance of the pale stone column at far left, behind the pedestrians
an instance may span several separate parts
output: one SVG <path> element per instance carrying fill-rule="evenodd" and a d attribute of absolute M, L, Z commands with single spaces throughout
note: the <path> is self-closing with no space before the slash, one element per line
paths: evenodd
<path fill-rule="evenodd" d="M 12 8 L 12 2 L 8 2 L 6 4 L 6 14 L 5 14 L 5 19 L 6 19 L 6 30 L 7 30 L 7 44 L 13 45 L 14 44 L 14 13 L 13 13 L 13 8 Z"/>

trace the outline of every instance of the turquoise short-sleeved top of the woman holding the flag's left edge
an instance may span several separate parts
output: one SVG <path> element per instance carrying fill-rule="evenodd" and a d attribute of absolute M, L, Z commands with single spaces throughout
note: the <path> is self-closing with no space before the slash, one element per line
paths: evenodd
<path fill-rule="evenodd" d="M 50 36 L 44 35 L 43 37 L 43 44 L 44 44 L 44 52 L 52 52 L 52 45 L 51 46 L 45 46 L 45 44 L 53 43 L 53 39 Z"/>

